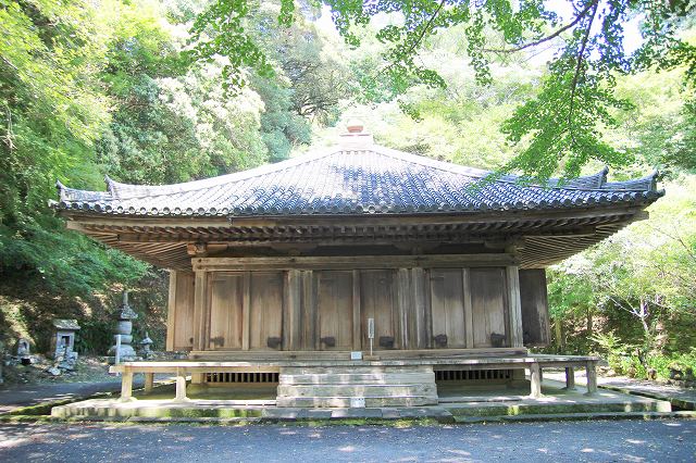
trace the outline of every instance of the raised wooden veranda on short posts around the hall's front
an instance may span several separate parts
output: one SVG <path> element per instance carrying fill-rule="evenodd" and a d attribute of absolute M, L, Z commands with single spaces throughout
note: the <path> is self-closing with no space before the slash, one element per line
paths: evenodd
<path fill-rule="evenodd" d="M 145 374 L 145 391 L 152 390 L 156 373 L 176 376 L 175 401 L 186 401 L 186 376 L 206 373 L 278 373 L 284 366 L 332 366 L 332 365 L 432 365 L 434 370 L 530 370 L 530 397 L 542 397 L 543 371 L 548 367 L 566 368 L 566 388 L 575 388 L 575 368 L 587 372 L 587 395 L 597 392 L 598 356 L 586 355 L 513 355 L 499 358 L 442 358 L 399 359 L 384 361 L 272 361 L 272 362 L 204 362 L 182 360 L 174 362 L 125 362 L 111 366 L 111 373 L 121 373 L 121 400 L 133 399 L 133 375 Z"/>

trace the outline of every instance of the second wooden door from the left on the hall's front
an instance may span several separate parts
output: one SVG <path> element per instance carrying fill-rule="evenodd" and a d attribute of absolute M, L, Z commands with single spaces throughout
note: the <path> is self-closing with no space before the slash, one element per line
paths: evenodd
<path fill-rule="evenodd" d="M 250 278 L 249 349 L 281 350 L 283 340 L 283 273 L 251 272 Z"/>

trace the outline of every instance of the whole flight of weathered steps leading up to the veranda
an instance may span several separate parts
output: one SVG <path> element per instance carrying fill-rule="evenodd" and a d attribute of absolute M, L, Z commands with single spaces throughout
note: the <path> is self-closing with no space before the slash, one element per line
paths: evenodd
<path fill-rule="evenodd" d="M 417 366 L 291 366 L 281 368 L 276 406 L 366 408 L 437 404 L 435 374 Z"/>

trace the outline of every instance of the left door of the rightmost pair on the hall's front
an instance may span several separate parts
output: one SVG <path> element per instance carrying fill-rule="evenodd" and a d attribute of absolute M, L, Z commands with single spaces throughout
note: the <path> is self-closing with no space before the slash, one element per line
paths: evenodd
<path fill-rule="evenodd" d="M 434 348 L 465 348 L 464 293 L 460 268 L 433 268 L 431 310 Z"/>

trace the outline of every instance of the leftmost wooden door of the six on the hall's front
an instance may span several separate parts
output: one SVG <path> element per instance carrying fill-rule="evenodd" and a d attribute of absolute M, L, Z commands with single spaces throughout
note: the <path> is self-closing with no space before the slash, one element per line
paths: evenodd
<path fill-rule="evenodd" d="M 210 279 L 210 349 L 241 349 L 243 273 L 216 273 Z"/>

